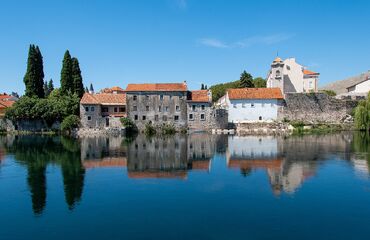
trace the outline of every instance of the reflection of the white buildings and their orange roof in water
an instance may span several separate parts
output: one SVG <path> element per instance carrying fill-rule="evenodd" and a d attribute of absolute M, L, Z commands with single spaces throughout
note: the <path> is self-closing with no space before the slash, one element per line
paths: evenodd
<path fill-rule="evenodd" d="M 288 152 L 296 151 L 295 146 L 280 146 L 286 142 L 275 137 L 231 137 L 229 138 L 228 167 L 239 168 L 243 175 L 254 169 L 265 169 L 275 194 L 294 192 L 307 177 L 316 170 L 315 158 L 290 158 Z M 285 151 L 284 151 L 285 150 Z M 307 154 L 307 153 L 306 153 Z M 310 161 L 311 160 L 311 161 Z"/>

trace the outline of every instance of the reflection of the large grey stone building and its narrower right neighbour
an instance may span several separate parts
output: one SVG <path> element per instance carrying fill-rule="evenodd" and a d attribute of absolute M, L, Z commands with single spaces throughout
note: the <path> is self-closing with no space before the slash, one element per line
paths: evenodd
<path fill-rule="evenodd" d="M 206 133 L 149 139 L 138 136 L 128 147 L 128 176 L 184 179 L 188 170 L 210 171 L 219 137 Z"/>

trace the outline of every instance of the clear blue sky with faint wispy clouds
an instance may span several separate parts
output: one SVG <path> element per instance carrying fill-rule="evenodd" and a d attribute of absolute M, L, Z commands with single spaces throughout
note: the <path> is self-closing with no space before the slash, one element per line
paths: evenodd
<path fill-rule="evenodd" d="M 66 49 L 95 89 L 266 77 L 277 52 L 320 84 L 370 70 L 370 1 L 0 1 L 0 92 L 23 94 L 29 44 L 59 86 Z"/>

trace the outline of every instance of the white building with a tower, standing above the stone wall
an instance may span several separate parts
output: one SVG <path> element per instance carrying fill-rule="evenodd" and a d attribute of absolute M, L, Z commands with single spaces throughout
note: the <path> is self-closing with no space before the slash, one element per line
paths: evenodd
<path fill-rule="evenodd" d="M 280 88 L 282 93 L 317 92 L 319 73 L 307 70 L 295 58 L 282 60 L 277 57 L 267 76 L 268 88 Z"/>

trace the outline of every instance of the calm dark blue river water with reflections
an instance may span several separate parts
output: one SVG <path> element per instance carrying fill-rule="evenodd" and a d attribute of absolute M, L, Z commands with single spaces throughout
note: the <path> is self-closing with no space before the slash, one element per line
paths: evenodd
<path fill-rule="evenodd" d="M 370 239 L 359 134 L 0 137 L 0 239 Z"/>

